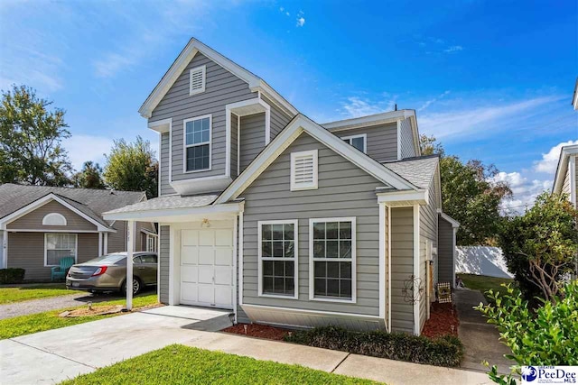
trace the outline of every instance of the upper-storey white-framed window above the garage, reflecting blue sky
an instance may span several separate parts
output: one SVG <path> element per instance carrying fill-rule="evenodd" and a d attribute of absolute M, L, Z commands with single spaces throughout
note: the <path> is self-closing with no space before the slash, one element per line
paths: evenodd
<path fill-rule="evenodd" d="M 210 170 L 211 115 L 186 119 L 182 125 L 185 172 Z"/>

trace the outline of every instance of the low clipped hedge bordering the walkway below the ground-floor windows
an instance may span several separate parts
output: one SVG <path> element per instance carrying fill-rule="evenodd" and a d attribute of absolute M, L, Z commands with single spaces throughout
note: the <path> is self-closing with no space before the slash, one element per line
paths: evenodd
<path fill-rule="evenodd" d="M 284 339 L 294 344 L 436 366 L 459 366 L 463 357 L 463 345 L 452 335 L 430 339 L 405 333 L 353 332 L 324 326 L 296 331 Z"/>

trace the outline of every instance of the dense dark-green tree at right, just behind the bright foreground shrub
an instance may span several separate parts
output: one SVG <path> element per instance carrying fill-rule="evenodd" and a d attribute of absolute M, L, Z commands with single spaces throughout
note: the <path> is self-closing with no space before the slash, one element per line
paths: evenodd
<path fill-rule="evenodd" d="M 524 215 L 502 223 L 499 245 L 526 298 L 558 295 L 562 279 L 575 269 L 577 221 L 567 197 L 545 192 Z"/>

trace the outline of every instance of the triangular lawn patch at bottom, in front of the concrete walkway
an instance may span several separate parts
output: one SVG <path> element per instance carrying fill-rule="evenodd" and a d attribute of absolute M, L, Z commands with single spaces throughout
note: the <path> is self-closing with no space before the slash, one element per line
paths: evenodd
<path fill-rule="evenodd" d="M 257 361 L 179 344 L 62 382 L 70 384 L 372 384 L 303 366 Z"/>

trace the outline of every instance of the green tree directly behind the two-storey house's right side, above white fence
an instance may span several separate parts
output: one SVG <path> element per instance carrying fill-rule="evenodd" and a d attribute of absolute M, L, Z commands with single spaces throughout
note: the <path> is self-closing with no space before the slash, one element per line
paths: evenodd
<path fill-rule="evenodd" d="M 446 155 L 433 136 L 420 137 L 424 155 L 440 155 L 443 211 L 460 222 L 458 245 L 489 244 L 499 232 L 502 220 L 500 205 L 512 191 L 494 179 L 498 169 L 480 160 L 463 163 L 457 156 Z"/>

